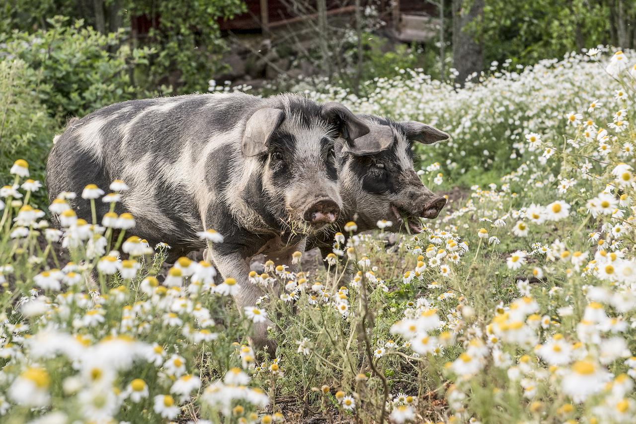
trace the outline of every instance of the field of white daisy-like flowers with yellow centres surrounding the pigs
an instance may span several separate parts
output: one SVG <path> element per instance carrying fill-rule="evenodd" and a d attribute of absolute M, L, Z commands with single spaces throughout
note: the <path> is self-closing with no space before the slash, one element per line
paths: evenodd
<path fill-rule="evenodd" d="M 307 253 L 300 272 L 266 262 L 242 314 L 211 264 L 157 278 L 169 246 L 135 237 L 134 216 L 86 222 L 66 202 L 114 209 L 125 181 L 46 215 L 17 160 L 0 190 L 0 420 L 633 422 L 635 59 L 592 49 L 457 91 L 404 71 L 365 99 L 310 93 L 448 131 L 418 152 L 422 181 L 485 185 L 421 234 L 336 235 L 329 272 Z M 265 316 L 278 349 L 257 357 Z"/>

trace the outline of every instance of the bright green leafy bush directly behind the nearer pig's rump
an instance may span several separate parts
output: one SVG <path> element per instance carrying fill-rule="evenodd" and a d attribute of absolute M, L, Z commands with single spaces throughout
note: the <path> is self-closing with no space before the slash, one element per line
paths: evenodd
<path fill-rule="evenodd" d="M 103 35 L 81 20 L 70 26 L 67 21 L 55 17 L 48 20 L 48 29 L 0 35 L 6 43 L 1 56 L 18 57 L 38 71 L 44 84 L 39 80 L 23 83 L 32 87 L 50 115 L 64 122 L 146 94 L 132 85 L 130 76 L 133 67 L 148 63 L 152 50 L 121 45 L 123 30 Z"/>

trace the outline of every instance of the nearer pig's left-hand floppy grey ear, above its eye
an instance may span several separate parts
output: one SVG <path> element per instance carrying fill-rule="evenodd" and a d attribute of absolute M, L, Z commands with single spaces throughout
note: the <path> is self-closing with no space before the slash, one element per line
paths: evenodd
<path fill-rule="evenodd" d="M 272 133 L 279 127 L 285 114 L 280 109 L 263 108 L 254 112 L 245 124 L 242 151 L 247 157 L 267 152 Z"/>

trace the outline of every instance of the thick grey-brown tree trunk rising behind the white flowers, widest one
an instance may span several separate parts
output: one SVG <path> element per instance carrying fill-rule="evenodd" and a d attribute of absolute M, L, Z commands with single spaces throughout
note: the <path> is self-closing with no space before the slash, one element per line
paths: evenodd
<path fill-rule="evenodd" d="M 462 87 L 467 76 L 483 69 L 481 39 L 468 29 L 471 22 L 481 19 L 483 4 L 484 0 L 453 0 L 453 67 Z"/>

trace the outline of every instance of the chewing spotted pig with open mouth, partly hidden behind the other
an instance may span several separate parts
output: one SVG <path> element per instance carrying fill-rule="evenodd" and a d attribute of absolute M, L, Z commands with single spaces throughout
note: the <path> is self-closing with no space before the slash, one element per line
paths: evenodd
<path fill-rule="evenodd" d="M 415 142 L 430 145 L 448 139 L 446 132 L 415 121 L 357 117 L 370 127 L 368 134 L 354 141 L 360 143 L 358 148 L 351 150 L 344 140 L 336 140 L 343 201 L 340 216 L 307 240 L 307 250 L 320 248 L 323 259 L 332 251 L 336 232 L 348 236 L 343 227 L 349 221 L 356 222 L 357 232 L 376 229 L 378 221 L 387 220 L 393 222 L 389 230 L 417 234 L 422 231 L 419 218 L 437 218 L 446 204 L 445 197 L 433 194 L 420 181 L 412 151 Z"/>

